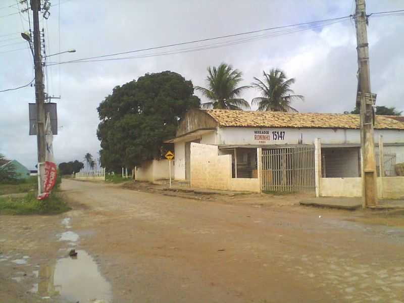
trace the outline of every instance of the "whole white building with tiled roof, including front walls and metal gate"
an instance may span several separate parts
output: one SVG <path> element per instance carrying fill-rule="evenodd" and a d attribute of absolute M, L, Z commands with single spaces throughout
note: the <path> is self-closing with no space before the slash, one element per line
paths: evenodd
<path fill-rule="evenodd" d="M 404 178 L 393 177 L 404 163 L 401 119 L 375 119 L 376 154 L 380 138 L 384 146 L 376 155 L 380 197 L 404 196 Z M 191 110 L 166 141 L 174 143 L 171 177 L 191 187 L 361 196 L 359 122 L 350 114 Z M 136 170 L 136 180 L 167 178 L 165 160 Z"/>

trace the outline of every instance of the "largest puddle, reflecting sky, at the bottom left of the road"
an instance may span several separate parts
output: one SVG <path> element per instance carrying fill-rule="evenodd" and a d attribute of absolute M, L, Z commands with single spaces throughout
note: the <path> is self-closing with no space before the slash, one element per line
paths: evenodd
<path fill-rule="evenodd" d="M 95 261 L 84 250 L 77 259 L 59 259 L 39 269 L 39 283 L 31 292 L 60 297 L 68 302 L 112 302 L 112 288 L 98 272 Z"/>

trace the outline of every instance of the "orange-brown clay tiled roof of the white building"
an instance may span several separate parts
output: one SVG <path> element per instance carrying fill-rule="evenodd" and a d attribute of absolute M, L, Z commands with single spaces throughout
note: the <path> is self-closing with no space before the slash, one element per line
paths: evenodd
<path fill-rule="evenodd" d="M 359 115 L 322 113 L 253 112 L 232 110 L 206 110 L 219 126 L 282 127 L 282 128 L 345 128 L 358 129 Z M 376 116 L 376 129 L 403 129 L 404 123 Z"/>

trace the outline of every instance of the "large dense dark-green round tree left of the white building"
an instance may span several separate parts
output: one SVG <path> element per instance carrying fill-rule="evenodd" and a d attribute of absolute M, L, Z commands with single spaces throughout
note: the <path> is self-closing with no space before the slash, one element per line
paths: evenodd
<path fill-rule="evenodd" d="M 171 71 L 115 87 L 97 108 L 101 165 L 119 171 L 160 158 L 163 141 L 175 136 L 187 110 L 199 106 L 192 82 Z"/>

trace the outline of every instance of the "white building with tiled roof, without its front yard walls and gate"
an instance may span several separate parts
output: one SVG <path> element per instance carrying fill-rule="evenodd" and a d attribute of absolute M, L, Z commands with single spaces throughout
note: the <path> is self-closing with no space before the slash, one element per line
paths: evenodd
<path fill-rule="evenodd" d="M 376 117 L 375 142 L 382 135 L 385 153 L 404 162 L 404 123 L 390 117 Z M 359 115 L 192 110 L 167 142 L 175 144 L 174 178 L 190 180 L 191 142 L 218 146 L 219 155 L 232 155 L 233 178 L 252 178 L 257 147 L 313 144 L 315 138 L 323 147 L 323 177 L 360 176 Z"/>

